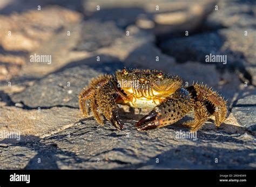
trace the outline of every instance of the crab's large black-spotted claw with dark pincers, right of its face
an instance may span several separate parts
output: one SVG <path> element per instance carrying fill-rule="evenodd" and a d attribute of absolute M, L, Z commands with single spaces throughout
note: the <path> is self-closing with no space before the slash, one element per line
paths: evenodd
<path fill-rule="evenodd" d="M 150 130 L 176 123 L 193 109 L 193 99 L 185 89 L 171 95 L 137 123 L 139 131 Z"/>

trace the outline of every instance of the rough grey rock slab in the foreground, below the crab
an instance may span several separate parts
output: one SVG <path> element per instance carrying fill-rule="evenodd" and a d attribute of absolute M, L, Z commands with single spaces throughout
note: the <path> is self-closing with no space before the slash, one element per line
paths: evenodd
<path fill-rule="evenodd" d="M 17 146 L 19 149 L 30 149 L 33 153 L 22 150 L 24 154 L 22 162 L 27 162 L 28 157 L 30 158 L 26 169 L 253 169 L 255 167 L 253 155 L 255 142 L 250 134 L 203 130 L 198 132 L 197 140 L 179 139 L 176 137 L 177 132 L 187 130 L 177 125 L 150 132 L 138 132 L 133 126 L 134 122 L 125 120 L 124 131 L 119 132 L 109 123 L 99 126 L 95 120 L 89 119 L 40 141 L 28 140 L 7 145 L 2 145 L 1 142 L 0 149 L 3 153 L 1 162 L 5 157 L 15 155 L 13 149 Z M 25 138 L 29 137 L 22 136 L 21 139 Z M 233 156 L 234 151 L 235 156 Z M 38 163 L 38 159 L 41 159 L 41 163 Z M 218 159 L 218 163 L 215 163 L 215 159 Z M 14 160 L 13 164 L 16 162 L 18 160 Z M 4 163 L 1 166 L 10 167 Z"/>

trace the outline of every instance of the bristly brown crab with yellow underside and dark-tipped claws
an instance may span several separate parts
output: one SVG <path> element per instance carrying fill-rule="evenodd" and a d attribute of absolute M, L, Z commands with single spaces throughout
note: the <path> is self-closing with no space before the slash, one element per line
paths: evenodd
<path fill-rule="evenodd" d="M 159 70 L 124 68 L 115 75 L 100 75 L 92 78 L 79 95 L 84 117 L 89 116 L 89 106 L 99 124 L 104 124 L 103 115 L 117 130 L 122 130 L 118 104 L 151 110 L 136 124 L 139 131 L 174 124 L 191 111 L 194 119 L 183 124 L 191 132 L 199 130 L 211 115 L 218 128 L 227 114 L 226 100 L 212 88 L 198 83 L 184 87 L 179 76 Z"/>

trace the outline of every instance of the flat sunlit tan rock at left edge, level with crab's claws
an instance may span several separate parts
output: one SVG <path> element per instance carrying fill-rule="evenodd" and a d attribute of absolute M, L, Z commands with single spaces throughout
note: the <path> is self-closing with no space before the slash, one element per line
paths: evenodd
<path fill-rule="evenodd" d="M 1 132 L 17 131 L 23 135 L 34 134 L 39 137 L 62 131 L 72 126 L 73 121 L 79 119 L 78 110 L 68 107 L 52 107 L 42 110 L 39 107 L 27 111 L 18 107 L 7 106 L 1 110 Z"/>

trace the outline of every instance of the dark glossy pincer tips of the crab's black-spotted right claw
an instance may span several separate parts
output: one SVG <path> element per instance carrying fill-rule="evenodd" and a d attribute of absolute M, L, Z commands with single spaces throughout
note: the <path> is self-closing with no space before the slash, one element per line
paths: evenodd
<path fill-rule="evenodd" d="M 157 120 L 157 112 L 151 111 L 148 115 L 144 116 L 136 124 L 138 131 L 146 131 L 157 128 L 159 126 L 159 121 Z"/>

